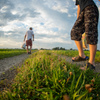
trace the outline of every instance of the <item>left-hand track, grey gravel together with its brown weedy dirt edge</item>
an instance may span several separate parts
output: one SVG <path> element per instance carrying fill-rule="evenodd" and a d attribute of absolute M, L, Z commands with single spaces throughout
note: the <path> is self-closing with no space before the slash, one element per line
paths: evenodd
<path fill-rule="evenodd" d="M 0 90 L 9 87 L 17 74 L 17 67 L 21 67 L 28 54 L 22 54 L 0 60 Z"/>

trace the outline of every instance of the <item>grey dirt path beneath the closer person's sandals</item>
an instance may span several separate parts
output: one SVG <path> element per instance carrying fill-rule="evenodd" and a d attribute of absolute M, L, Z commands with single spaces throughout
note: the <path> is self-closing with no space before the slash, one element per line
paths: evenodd
<path fill-rule="evenodd" d="M 72 57 L 67 57 L 67 56 L 63 56 L 63 55 L 59 55 L 59 57 L 65 59 L 67 62 L 72 63 L 72 64 L 76 64 L 76 65 L 80 65 L 81 67 L 85 66 L 87 61 L 82 61 L 82 62 L 73 62 L 72 61 Z M 96 63 L 96 69 L 94 72 L 98 72 L 100 73 L 100 63 Z"/>

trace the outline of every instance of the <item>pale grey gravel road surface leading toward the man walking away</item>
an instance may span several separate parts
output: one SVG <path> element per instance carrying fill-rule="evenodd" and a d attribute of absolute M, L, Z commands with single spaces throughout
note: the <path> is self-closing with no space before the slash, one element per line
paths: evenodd
<path fill-rule="evenodd" d="M 10 74 L 13 70 L 14 66 L 21 66 L 26 58 L 28 58 L 28 54 L 21 54 L 19 56 L 4 58 L 0 60 L 0 80 L 5 79 L 5 74 Z"/>

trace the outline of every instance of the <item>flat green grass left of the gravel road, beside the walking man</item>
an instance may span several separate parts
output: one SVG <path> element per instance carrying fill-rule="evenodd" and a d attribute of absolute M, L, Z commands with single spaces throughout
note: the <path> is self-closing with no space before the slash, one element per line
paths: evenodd
<path fill-rule="evenodd" d="M 0 49 L 0 59 L 17 56 L 26 53 L 25 49 Z"/>

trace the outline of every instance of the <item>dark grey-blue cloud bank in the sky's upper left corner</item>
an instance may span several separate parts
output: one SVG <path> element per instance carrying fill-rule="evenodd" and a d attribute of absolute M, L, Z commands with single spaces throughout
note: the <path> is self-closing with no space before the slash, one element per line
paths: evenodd
<path fill-rule="evenodd" d="M 10 0 L 0 1 L 0 7 L 0 26 L 5 26 L 14 20 L 24 21 L 27 17 L 35 18 L 39 15 L 34 8 L 24 7 L 23 3 L 16 6 Z"/>

